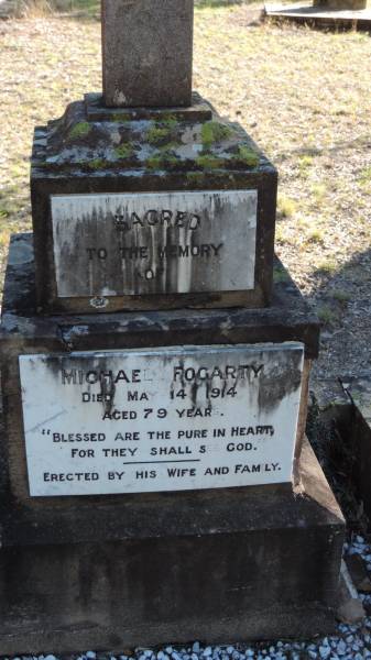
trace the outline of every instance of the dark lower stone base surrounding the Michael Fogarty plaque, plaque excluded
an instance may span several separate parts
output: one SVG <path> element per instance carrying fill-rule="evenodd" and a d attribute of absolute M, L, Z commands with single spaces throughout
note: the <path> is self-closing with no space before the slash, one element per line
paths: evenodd
<path fill-rule="evenodd" d="M 1 652 L 330 630 L 343 520 L 306 442 L 302 451 L 303 428 L 295 487 L 81 498 L 30 497 L 26 485 L 19 355 L 294 341 L 310 361 L 318 326 L 293 283 L 275 285 L 272 306 L 260 310 L 42 317 L 30 235 L 14 238 L 9 264 L 1 332 L 1 447 L 10 476 L 1 496 Z M 238 461 L 245 460 L 242 451 Z"/>

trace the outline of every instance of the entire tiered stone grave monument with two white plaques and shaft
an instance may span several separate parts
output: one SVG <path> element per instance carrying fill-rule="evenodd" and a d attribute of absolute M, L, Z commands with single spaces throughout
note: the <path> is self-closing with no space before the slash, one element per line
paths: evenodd
<path fill-rule="evenodd" d="M 102 16 L 103 95 L 35 130 L 9 250 L 1 653 L 328 630 L 343 520 L 276 170 L 192 94 L 193 0 Z"/>

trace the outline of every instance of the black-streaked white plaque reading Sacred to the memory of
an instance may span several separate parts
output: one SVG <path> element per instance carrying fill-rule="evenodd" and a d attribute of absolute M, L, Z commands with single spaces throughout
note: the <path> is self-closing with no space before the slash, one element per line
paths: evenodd
<path fill-rule="evenodd" d="M 52 196 L 59 297 L 254 288 L 257 190 Z"/>

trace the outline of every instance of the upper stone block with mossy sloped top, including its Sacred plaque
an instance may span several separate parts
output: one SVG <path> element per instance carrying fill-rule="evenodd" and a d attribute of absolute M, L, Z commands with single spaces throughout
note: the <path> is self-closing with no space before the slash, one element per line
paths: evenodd
<path fill-rule="evenodd" d="M 87 95 L 35 131 L 39 310 L 269 305 L 276 186 L 249 135 L 198 95 L 171 109 Z"/>

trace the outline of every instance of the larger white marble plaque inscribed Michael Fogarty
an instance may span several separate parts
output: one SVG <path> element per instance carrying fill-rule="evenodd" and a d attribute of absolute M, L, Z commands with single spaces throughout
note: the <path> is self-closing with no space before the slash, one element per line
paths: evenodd
<path fill-rule="evenodd" d="M 291 479 L 303 344 L 21 355 L 30 492 Z"/>

